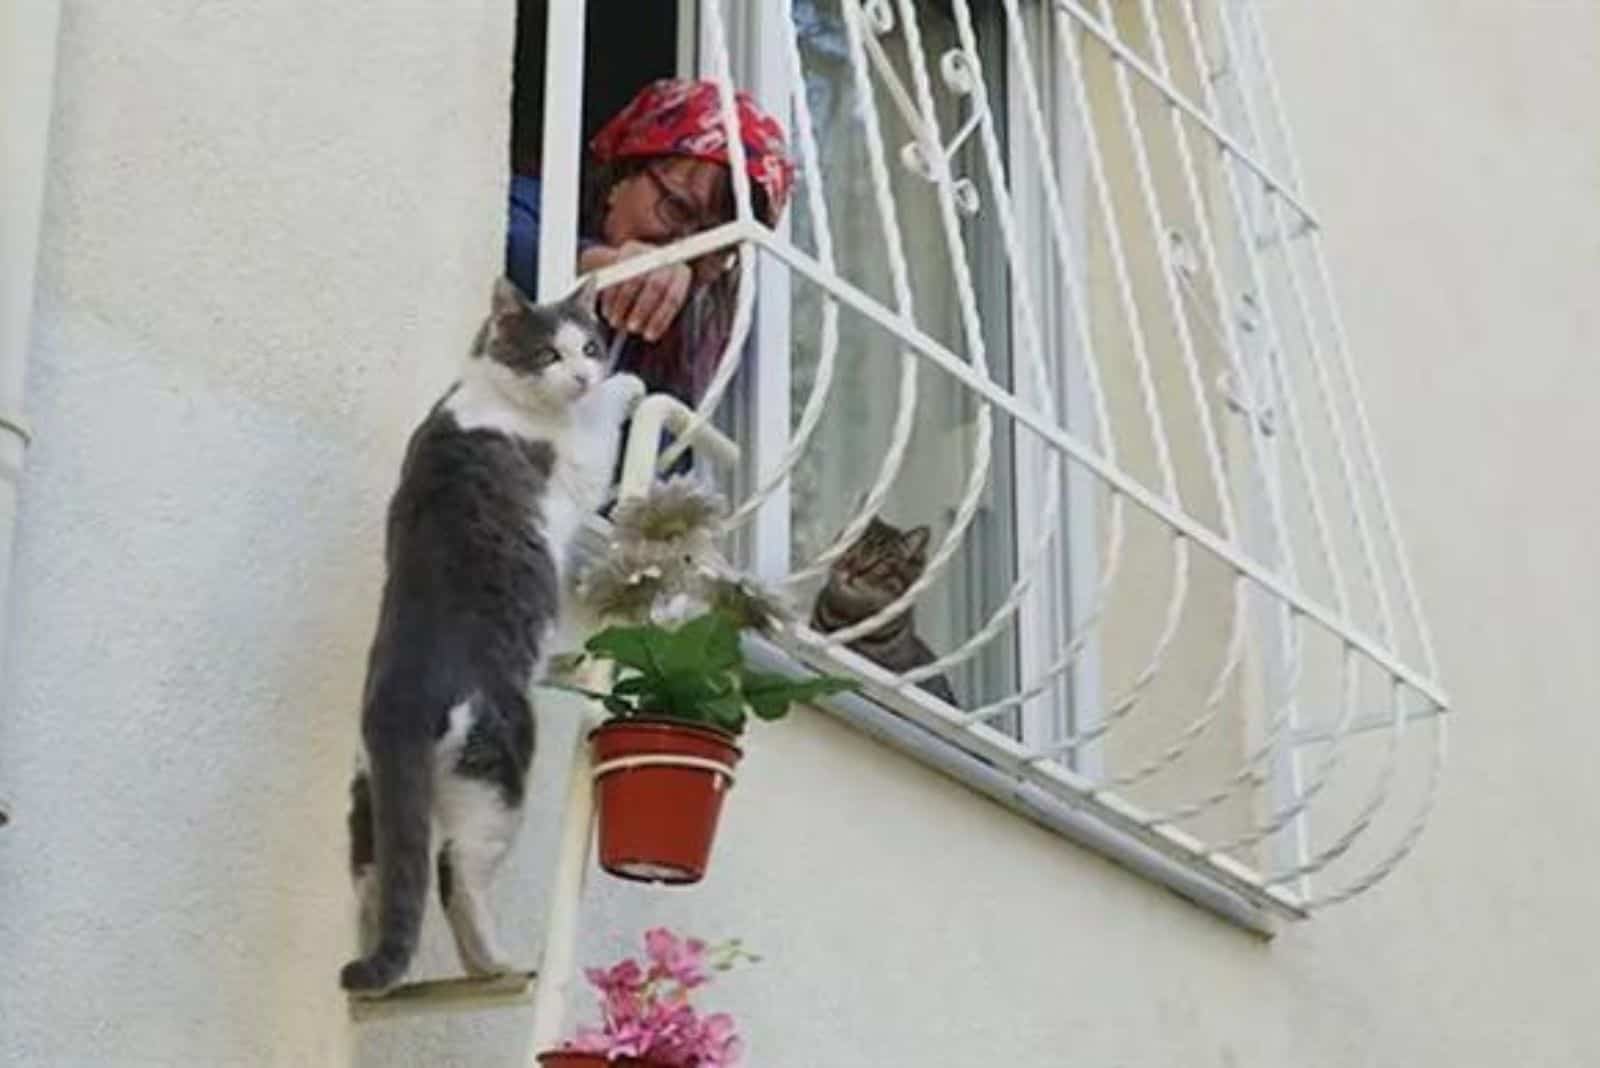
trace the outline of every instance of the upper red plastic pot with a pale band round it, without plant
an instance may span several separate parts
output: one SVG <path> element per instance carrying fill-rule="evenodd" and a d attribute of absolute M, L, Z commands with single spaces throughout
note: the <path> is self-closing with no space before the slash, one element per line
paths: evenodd
<path fill-rule="evenodd" d="M 699 883 L 739 747 L 712 727 L 613 719 L 589 734 L 600 867 L 637 883 Z"/>

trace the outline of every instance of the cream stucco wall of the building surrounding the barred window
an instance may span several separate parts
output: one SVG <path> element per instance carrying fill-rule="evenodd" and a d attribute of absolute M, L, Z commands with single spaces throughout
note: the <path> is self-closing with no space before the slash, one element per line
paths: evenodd
<path fill-rule="evenodd" d="M 352 1042 L 333 985 L 381 507 L 496 257 L 510 5 L 450 6 L 67 5 L 3 1065 L 518 1063 L 525 1014 Z M 597 881 L 586 956 L 744 935 L 720 999 L 766 1068 L 1600 1063 L 1600 6 L 1382 6 L 1267 22 L 1461 705 L 1418 855 L 1262 943 L 798 716 L 712 878 Z M 565 743 L 501 894 L 530 959 Z"/>

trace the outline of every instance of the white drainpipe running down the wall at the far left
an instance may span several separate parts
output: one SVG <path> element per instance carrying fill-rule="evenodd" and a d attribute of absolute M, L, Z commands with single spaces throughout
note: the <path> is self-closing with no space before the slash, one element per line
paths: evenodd
<path fill-rule="evenodd" d="M 29 444 L 22 369 L 32 328 L 59 29 L 61 0 L 0 3 L 0 662 L 11 603 L 18 484 Z M 0 711 L 3 707 L 0 700 Z M 0 796 L 0 827 L 6 819 Z"/>

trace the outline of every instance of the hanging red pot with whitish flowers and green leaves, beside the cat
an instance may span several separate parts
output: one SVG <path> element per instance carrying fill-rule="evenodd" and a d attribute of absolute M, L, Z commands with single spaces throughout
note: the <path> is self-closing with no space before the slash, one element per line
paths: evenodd
<path fill-rule="evenodd" d="M 606 553 L 578 582 L 589 612 L 629 620 L 566 659 L 566 673 L 584 660 L 603 664 L 606 689 L 552 683 L 610 713 L 589 745 L 600 867 L 624 879 L 698 883 L 746 719 L 781 719 L 794 703 L 854 687 L 746 665 L 741 635 L 773 636 L 792 614 L 781 596 L 715 560 L 723 513 L 722 499 L 694 480 L 656 483 L 616 507 Z"/>

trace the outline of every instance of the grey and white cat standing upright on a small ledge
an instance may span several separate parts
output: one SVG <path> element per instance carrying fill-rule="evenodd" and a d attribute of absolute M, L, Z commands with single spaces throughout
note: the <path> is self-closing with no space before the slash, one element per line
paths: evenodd
<path fill-rule="evenodd" d="M 387 580 L 350 783 L 362 956 L 346 990 L 394 986 L 435 865 L 461 962 L 507 970 L 490 878 L 522 823 L 530 689 L 549 656 L 566 555 L 611 486 L 643 395 L 605 377 L 594 289 L 536 305 L 494 285 L 461 379 L 416 428 L 389 504 Z"/>

